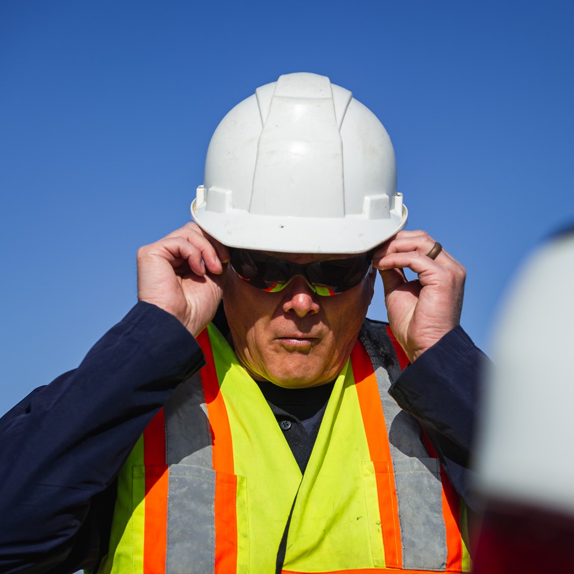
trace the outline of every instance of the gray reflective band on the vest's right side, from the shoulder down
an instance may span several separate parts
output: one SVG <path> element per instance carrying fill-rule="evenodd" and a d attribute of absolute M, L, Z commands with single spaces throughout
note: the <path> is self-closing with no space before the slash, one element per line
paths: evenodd
<path fill-rule="evenodd" d="M 413 570 L 444 570 L 447 534 L 437 459 L 422 444 L 421 427 L 389 395 L 401 373 L 386 325 L 366 320 L 360 340 L 371 358 L 389 433 L 401 525 L 402 565 Z"/>

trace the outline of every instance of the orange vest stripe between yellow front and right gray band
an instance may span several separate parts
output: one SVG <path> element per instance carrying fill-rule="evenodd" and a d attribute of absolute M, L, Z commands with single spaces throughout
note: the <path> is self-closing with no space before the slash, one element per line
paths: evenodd
<path fill-rule="evenodd" d="M 401 528 L 385 416 L 371 359 L 359 341 L 351 352 L 351 365 L 369 453 L 375 466 L 385 565 L 401 568 Z"/>

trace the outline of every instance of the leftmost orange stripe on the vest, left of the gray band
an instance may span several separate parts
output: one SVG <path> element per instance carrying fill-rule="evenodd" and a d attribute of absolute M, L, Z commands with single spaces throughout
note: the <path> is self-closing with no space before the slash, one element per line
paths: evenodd
<path fill-rule="evenodd" d="M 145 523 L 144 574 L 165 572 L 168 466 L 165 461 L 164 409 L 144 430 Z"/>

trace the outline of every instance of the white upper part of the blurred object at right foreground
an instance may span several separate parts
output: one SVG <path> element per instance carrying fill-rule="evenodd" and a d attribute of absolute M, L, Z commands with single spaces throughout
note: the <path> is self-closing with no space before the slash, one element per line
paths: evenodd
<path fill-rule="evenodd" d="M 574 515 L 574 231 L 537 249 L 504 309 L 483 404 L 479 487 Z"/>

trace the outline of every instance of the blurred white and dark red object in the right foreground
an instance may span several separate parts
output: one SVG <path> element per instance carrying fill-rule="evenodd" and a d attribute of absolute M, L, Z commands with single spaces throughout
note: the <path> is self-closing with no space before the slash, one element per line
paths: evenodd
<path fill-rule="evenodd" d="M 493 340 L 479 432 L 475 574 L 572 572 L 574 229 L 539 247 Z"/>

